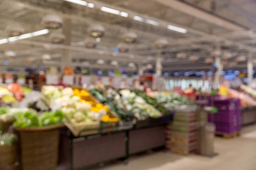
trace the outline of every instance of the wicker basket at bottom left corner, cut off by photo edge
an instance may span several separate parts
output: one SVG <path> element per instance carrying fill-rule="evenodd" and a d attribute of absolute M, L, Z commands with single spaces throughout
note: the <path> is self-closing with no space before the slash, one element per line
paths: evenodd
<path fill-rule="evenodd" d="M 0 166 L 10 166 L 15 164 L 16 161 L 17 161 L 16 145 L 0 146 Z"/>

